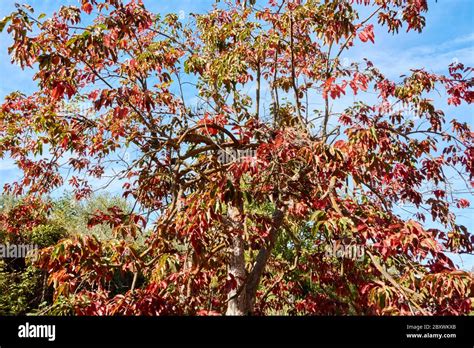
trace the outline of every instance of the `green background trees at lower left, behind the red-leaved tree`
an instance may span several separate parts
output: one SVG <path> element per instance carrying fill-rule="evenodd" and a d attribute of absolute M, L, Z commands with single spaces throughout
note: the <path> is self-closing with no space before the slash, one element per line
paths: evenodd
<path fill-rule="evenodd" d="M 90 216 L 97 210 L 128 207 L 124 199 L 107 194 L 94 195 L 82 202 L 75 202 L 70 195 L 65 194 L 60 199 L 49 200 L 49 205 L 51 208 L 48 210 L 36 210 L 36 219 L 32 219 L 37 222 L 34 227 L 20 223 L 15 233 L 12 233 L 3 230 L 0 225 L 1 250 L 12 245 L 47 248 L 77 235 L 86 235 L 102 243 L 110 242 L 113 233 L 109 226 L 97 225 L 87 229 Z M 35 208 L 34 202 L 0 196 L 0 217 L 8 219 L 8 216 L 23 215 L 31 218 L 31 213 L 18 214 L 26 206 Z M 143 242 L 144 238 L 138 238 L 134 245 L 144 248 Z M 26 258 L 22 256 L 0 260 L 0 315 L 74 313 L 74 303 L 68 298 L 59 297 L 53 301 L 53 284 L 48 282 L 48 273 L 35 265 L 35 254 L 29 254 Z M 133 276 L 117 271 L 108 284 L 108 290 L 129 288 L 132 281 Z"/>

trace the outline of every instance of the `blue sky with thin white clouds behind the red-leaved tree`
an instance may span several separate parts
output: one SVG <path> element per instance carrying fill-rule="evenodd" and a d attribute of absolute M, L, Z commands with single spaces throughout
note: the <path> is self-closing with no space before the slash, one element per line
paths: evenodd
<path fill-rule="evenodd" d="M 17 0 L 17 2 L 20 2 Z M 50 14 L 60 5 L 78 4 L 79 0 L 23 0 L 32 5 L 37 13 Z M 211 8 L 212 0 L 144 0 L 148 9 L 153 12 L 175 12 L 187 15 L 193 12 L 203 12 Z M 0 18 L 8 15 L 15 9 L 14 0 L 2 0 Z M 408 74 L 412 68 L 426 68 L 435 73 L 447 73 L 447 67 L 454 61 L 467 66 L 474 66 L 474 0 L 429 0 L 430 10 L 426 15 L 427 25 L 422 34 L 416 32 L 405 33 L 402 29 L 399 35 L 387 34 L 384 29 L 375 31 L 374 45 L 356 45 L 346 58 L 348 62 L 361 61 L 368 57 L 388 77 L 396 79 L 402 74 Z M 32 82 L 33 71 L 22 71 L 18 66 L 10 64 L 7 47 L 10 38 L 6 32 L 0 34 L 0 98 L 15 90 L 32 92 L 36 86 Z M 350 99 L 350 98 L 349 98 Z M 321 102 L 319 98 L 312 101 L 317 108 Z M 334 103 L 333 109 L 339 111 L 351 100 L 341 99 Z M 437 106 L 447 110 L 447 119 L 453 117 L 466 121 L 474 127 L 474 109 L 469 106 L 459 108 L 447 107 L 443 98 L 436 100 Z M 8 158 L 0 160 L 0 187 L 6 182 L 18 178 L 19 172 L 14 163 Z M 118 190 L 120 185 L 111 188 Z M 471 201 L 472 196 L 464 197 Z M 474 231 L 474 210 L 466 209 L 458 214 L 459 222 L 465 224 L 470 231 Z M 474 267 L 474 257 L 464 256 L 455 258 L 462 268 Z"/>

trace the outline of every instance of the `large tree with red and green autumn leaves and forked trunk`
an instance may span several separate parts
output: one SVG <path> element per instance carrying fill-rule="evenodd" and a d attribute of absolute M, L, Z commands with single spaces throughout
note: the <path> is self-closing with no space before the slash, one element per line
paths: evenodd
<path fill-rule="evenodd" d="M 139 0 L 82 0 L 50 18 L 18 6 L 1 27 L 39 89 L 2 105 L 0 155 L 24 173 L 7 192 L 41 197 L 68 180 L 81 199 L 114 162 L 134 202 L 91 219 L 115 240 L 45 250 L 56 298 L 95 315 L 468 313 L 472 275 L 446 252 L 472 252 L 453 213 L 469 202 L 449 177 L 471 192 L 473 133 L 429 95 L 443 88 L 449 104 L 470 104 L 472 69 L 392 81 L 369 60 L 341 62 L 374 42 L 375 25 L 421 32 L 427 10 L 426 0 L 217 1 L 183 24 Z M 311 112 L 318 94 L 324 107 Z M 333 112 L 345 94 L 358 101 Z M 83 107 L 64 112 L 72 102 Z M 14 233 L 18 220 L 4 223 Z M 364 253 L 338 257 L 334 245 Z M 134 274 L 119 293 L 107 289 L 117 269 Z"/>

